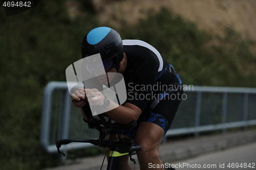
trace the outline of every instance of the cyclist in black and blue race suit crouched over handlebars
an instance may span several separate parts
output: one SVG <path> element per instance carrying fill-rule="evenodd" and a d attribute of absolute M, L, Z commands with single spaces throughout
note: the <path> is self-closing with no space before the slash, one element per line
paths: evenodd
<path fill-rule="evenodd" d="M 137 152 L 140 168 L 150 169 L 149 163 L 163 164 L 159 158 L 160 143 L 173 122 L 183 93 L 182 82 L 174 67 L 152 45 L 141 40 L 122 40 L 108 27 L 91 30 L 83 38 L 81 53 L 82 58 L 100 53 L 106 74 L 122 74 L 126 86 L 127 100 L 122 105 L 106 98 L 96 88 L 86 89 L 87 97 L 93 96 L 88 98 L 90 105 L 100 106 L 108 117 L 121 124 L 137 120 L 137 128 L 122 131 L 122 137 L 131 138 L 142 146 Z M 100 77 L 96 67 L 90 63 L 88 70 L 101 84 L 106 84 L 108 79 Z M 75 107 L 86 105 L 83 90 L 76 90 L 71 97 L 76 101 L 73 102 Z M 82 109 L 81 112 L 87 120 Z M 128 157 L 124 159 L 122 169 L 132 169 Z"/>

